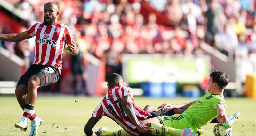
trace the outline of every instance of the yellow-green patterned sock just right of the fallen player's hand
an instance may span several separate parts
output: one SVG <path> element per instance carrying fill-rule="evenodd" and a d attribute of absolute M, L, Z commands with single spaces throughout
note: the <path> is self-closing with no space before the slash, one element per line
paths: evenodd
<path fill-rule="evenodd" d="M 147 126 L 154 127 L 155 129 L 151 129 L 148 131 L 149 135 L 172 135 L 172 136 L 180 136 L 183 133 L 182 129 L 175 129 L 172 127 L 165 126 L 160 123 L 148 123 Z"/>

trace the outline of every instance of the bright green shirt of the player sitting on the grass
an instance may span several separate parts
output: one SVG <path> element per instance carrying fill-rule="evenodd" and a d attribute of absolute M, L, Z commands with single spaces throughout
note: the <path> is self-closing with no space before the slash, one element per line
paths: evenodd
<path fill-rule="evenodd" d="M 205 94 L 196 103 L 191 104 L 182 115 L 187 119 L 191 126 L 192 132 L 201 129 L 204 125 L 211 122 L 213 118 L 217 117 L 217 106 L 224 106 L 226 104 L 223 95 Z"/>

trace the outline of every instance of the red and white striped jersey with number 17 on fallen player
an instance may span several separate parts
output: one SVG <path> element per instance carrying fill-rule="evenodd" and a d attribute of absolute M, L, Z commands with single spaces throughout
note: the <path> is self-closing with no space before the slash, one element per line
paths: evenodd
<path fill-rule="evenodd" d="M 132 100 L 133 110 L 138 118 L 139 122 L 151 117 L 148 112 L 142 110 L 140 107 L 135 104 L 133 99 L 132 88 L 124 86 L 121 88 L 111 88 L 108 89 L 108 93 L 100 102 L 100 105 L 95 108 L 92 116 L 101 118 L 102 116 L 107 116 L 114 120 L 118 125 L 120 125 L 126 132 L 131 135 L 140 135 L 140 132 L 132 121 L 128 118 L 123 109 L 123 97 L 129 96 Z"/>

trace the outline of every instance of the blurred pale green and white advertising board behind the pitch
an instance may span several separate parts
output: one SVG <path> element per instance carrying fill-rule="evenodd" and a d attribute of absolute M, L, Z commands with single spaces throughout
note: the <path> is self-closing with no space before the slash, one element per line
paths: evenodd
<path fill-rule="evenodd" d="M 169 57 L 151 54 L 124 54 L 123 76 L 128 83 L 178 82 L 196 84 L 208 78 L 210 58 Z"/>

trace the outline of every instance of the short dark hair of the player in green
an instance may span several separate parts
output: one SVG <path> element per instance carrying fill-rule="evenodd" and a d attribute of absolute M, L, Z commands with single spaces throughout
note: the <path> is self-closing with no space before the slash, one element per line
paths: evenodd
<path fill-rule="evenodd" d="M 212 77 L 212 82 L 219 85 L 220 89 L 224 89 L 229 83 L 229 75 L 222 71 L 213 71 L 210 77 Z"/>

